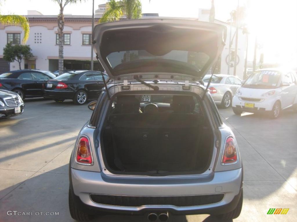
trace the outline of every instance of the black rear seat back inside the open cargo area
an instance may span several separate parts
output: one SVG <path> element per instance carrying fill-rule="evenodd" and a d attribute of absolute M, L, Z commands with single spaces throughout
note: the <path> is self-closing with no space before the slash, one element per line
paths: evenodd
<path fill-rule="evenodd" d="M 135 113 L 110 115 L 109 123 L 123 165 L 146 160 L 159 169 L 162 163 L 191 161 L 204 121 L 197 114 Z"/>

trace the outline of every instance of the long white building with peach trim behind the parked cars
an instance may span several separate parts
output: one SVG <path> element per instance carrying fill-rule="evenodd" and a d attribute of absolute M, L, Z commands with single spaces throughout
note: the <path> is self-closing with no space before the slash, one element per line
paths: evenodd
<path fill-rule="evenodd" d="M 106 9 L 105 4 L 99 5 L 96 10 L 95 24 L 102 16 Z M 26 17 L 30 24 L 30 35 L 26 44 L 30 45 L 34 57 L 29 60 L 23 60 L 22 68 L 36 68 L 41 70 L 55 71 L 58 69 L 58 42 L 56 35 L 58 33 L 57 16 L 40 15 L 40 12 L 28 11 Z M 154 14 L 155 15 L 155 14 Z M 143 18 L 154 18 L 155 16 L 144 15 Z M 160 17 L 165 18 L 165 17 Z M 184 18 L 189 20 L 197 20 L 197 18 Z M 73 70 L 88 70 L 91 66 L 91 16 L 64 16 L 64 67 Z M 208 21 L 209 10 L 199 9 L 198 20 Z M 225 22 L 216 20 L 215 22 L 227 26 L 227 41 L 222 52 L 221 62 L 219 63 L 219 72 L 228 74 L 228 54 L 229 54 L 229 30 L 232 29 L 232 34 L 235 33 L 235 27 L 228 25 Z M 8 63 L 3 59 L 3 48 L 7 41 L 12 40 L 21 42 L 23 38 L 23 30 L 19 26 L 2 25 L 0 24 L 0 73 L 9 70 L 17 70 L 19 68 L 17 62 Z M 17 43 L 16 42 L 16 43 Z M 231 46 L 231 54 L 235 49 L 235 41 Z M 238 35 L 238 65 L 236 75 L 239 78 L 243 77 L 244 72 L 244 52 L 245 52 L 245 36 L 242 31 Z M 234 54 L 234 53 L 233 53 Z M 234 57 L 233 57 L 234 60 Z M 234 61 L 231 59 L 231 66 Z M 94 70 L 100 70 L 101 66 L 94 58 Z M 230 67 L 229 74 L 233 75 L 233 67 Z"/>

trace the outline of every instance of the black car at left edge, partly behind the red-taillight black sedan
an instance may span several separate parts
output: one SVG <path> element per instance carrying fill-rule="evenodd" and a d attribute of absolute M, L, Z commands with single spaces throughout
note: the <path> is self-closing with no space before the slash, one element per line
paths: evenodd
<path fill-rule="evenodd" d="M 51 72 L 38 70 L 15 70 L 0 75 L 0 89 L 17 93 L 25 97 L 40 97 L 43 83 L 56 76 Z"/>

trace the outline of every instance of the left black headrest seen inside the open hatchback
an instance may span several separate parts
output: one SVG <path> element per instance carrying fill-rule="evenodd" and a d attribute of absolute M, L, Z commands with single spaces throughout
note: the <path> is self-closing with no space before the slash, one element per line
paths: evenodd
<path fill-rule="evenodd" d="M 135 96 L 122 95 L 117 97 L 116 113 L 139 112 L 140 102 Z"/>

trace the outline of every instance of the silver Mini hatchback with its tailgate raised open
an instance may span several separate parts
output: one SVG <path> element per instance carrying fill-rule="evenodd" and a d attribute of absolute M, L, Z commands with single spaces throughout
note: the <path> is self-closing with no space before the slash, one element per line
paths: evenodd
<path fill-rule="evenodd" d="M 225 33 L 225 26 L 190 20 L 96 25 L 94 49 L 110 79 L 89 104 L 93 114 L 71 155 L 72 218 L 239 216 L 243 170 L 237 142 L 200 84 L 220 56 Z"/>

